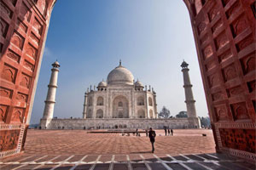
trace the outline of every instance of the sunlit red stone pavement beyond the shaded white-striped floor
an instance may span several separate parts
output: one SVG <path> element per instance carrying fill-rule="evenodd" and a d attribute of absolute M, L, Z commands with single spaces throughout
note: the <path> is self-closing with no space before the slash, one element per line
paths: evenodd
<path fill-rule="evenodd" d="M 25 153 L 28 155 L 111 155 L 150 153 L 151 144 L 145 133 L 141 137 L 120 133 L 88 133 L 85 130 L 28 130 Z M 155 153 L 214 153 L 212 130 L 175 129 L 173 136 L 156 130 Z M 202 133 L 207 136 L 203 137 Z"/>

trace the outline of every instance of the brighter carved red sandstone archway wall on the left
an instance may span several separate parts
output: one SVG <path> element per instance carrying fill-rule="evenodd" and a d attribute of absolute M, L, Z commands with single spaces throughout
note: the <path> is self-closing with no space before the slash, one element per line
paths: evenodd
<path fill-rule="evenodd" d="M 23 149 L 54 2 L 0 1 L 0 157 Z"/>

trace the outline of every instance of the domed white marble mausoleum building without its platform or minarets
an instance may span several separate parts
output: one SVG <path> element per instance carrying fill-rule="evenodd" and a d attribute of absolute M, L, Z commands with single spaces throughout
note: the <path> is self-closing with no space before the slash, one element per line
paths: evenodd
<path fill-rule="evenodd" d="M 128 69 L 121 65 L 110 71 L 107 82 L 85 93 L 83 118 L 157 118 L 154 89 L 134 82 Z"/>

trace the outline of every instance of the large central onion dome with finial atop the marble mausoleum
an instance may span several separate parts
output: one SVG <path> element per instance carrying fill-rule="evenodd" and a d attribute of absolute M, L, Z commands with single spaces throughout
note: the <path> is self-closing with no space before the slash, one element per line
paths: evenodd
<path fill-rule="evenodd" d="M 128 84 L 133 85 L 134 77 L 128 69 L 121 65 L 117 66 L 108 74 L 108 84 Z"/>

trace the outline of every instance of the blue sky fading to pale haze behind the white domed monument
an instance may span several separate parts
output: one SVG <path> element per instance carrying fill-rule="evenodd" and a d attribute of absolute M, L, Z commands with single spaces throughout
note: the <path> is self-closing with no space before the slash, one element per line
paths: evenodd
<path fill-rule="evenodd" d="M 43 116 L 51 64 L 61 64 L 54 116 L 81 117 L 84 92 L 119 65 L 151 85 L 175 116 L 186 111 L 181 63 L 189 63 L 198 116 L 207 116 L 189 13 L 181 0 L 59 0 L 53 9 L 31 123 Z"/>

